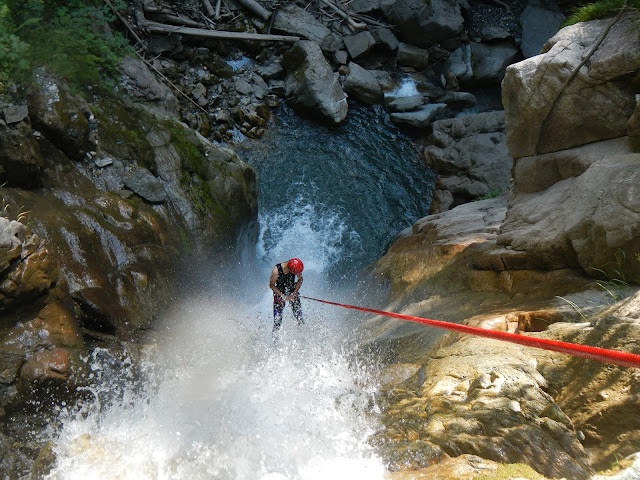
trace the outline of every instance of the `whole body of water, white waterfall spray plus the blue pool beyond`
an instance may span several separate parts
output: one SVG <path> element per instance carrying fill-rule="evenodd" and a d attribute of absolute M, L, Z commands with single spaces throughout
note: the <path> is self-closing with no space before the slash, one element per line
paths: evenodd
<path fill-rule="evenodd" d="M 375 360 L 353 355 L 355 320 L 303 301 L 305 324 L 287 307 L 273 337 L 268 277 L 297 256 L 304 294 L 353 301 L 357 272 L 426 213 L 432 178 L 376 110 L 353 109 L 337 129 L 283 110 L 246 148 L 260 175 L 251 265 L 233 291 L 216 279 L 176 305 L 142 353 L 87 358 L 97 400 L 60 412 L 49 478 L 383 478 L 367 443 L 378 428 Z M 142 380 L 128 381 L 140 363 Z"/>

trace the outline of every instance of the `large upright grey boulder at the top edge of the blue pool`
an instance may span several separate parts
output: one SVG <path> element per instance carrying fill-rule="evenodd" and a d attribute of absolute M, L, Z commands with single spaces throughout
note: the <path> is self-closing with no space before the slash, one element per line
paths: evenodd
<path fill-rule="evenodd" d="M 294 108 L 332 124 L 347 116 L 347 96 L 318 44 L 297 42 L 283 57 L 286 96 Z"/>

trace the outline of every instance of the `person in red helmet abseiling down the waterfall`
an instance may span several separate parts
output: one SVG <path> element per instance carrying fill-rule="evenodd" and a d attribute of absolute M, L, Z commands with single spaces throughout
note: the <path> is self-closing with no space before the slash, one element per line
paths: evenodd
<path fill-rule="evenodd" d="M 282 325 L 282 311 L 286 302 L 291 304 L 293 316 L 298 325 L 302 325 L 302 307 L 298 291 L 302 285 L 302 270 L 304 265 L 299 258 L 292 258 L 288 262 L 278 263 L 271 271 L 269 288 L 273 291 L 273 331 Z M 296 277 L 298 279 L 296 280 Z"/>

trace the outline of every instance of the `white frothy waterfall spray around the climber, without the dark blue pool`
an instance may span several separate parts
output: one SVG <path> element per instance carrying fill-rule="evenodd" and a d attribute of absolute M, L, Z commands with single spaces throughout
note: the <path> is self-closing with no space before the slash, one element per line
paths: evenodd
<path fill-rule="evenodd" d="M 383 478 L 384 465 L 367 444 L 376 429 L 369 373 L 352 361 L 341 312 L 304 302 L 306 323 L 298 327 L 287 307 L 272 337 L 273 264 L 298 247 L 303 289 L 321 291 L 325 270 L 339 258 L 339 237 L 348 235 L 337 216 L 318 219 L 309 208 L 263 216 L 264 267 L 247 280 L 262 294 L 191 298 L 176 307 L 142 393 L 132 388 L 64 419 L 48 478 Z M 98 357 L 92 366 L 102 371 Z M 96 396 L 108 396 L 108 381 L 96 388 L 103 389 Z"/>

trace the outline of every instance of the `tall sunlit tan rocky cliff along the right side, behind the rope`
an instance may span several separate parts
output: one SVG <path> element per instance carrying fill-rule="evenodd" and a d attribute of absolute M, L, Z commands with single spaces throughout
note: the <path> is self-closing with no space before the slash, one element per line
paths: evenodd
<path fill-rule="evenodd" d="M 375 265 L 389 308 L 640 352 L 639 18 L 565 28 L 506 69 L 509 194 L 404 232 Z M 446 148 L 426 157 L 446 158 Z M 369 326 L 370 347 L 390 363 L 377 440 L 405 471 L 397 478 L 432 478 L 451 457 L 475 475 L 495 470 L 485 459 L 588 478 L 637 450 L 635 369 L 395 320 Z"/>

